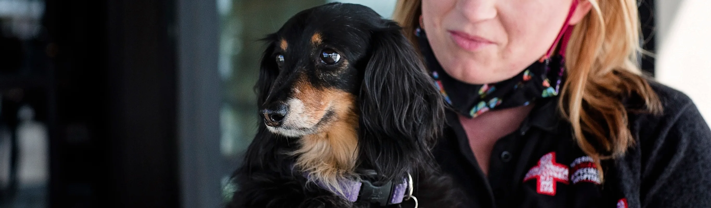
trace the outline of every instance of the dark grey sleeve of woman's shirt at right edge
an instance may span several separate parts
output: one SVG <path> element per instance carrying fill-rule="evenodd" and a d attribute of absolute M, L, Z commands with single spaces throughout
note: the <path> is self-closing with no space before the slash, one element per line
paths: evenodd
<path fill-rule="evenodd" d="M 641 205 L 711 207 L 711 130 L 690 99 L 676 103 L 643 149 Z"/>

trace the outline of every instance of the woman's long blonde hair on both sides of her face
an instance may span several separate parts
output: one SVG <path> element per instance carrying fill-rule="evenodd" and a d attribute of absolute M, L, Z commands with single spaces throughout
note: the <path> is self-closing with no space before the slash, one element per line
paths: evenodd
<path fill-rule="evenodd" d="M 578 1 L 578 0 L 575 0 Z M 592 10 L 580 21 L 566 50 L 566 79 L 558 108 L 570 121 L 578 146 L 600 160 L 624 155 L 634 144 L 623 99 L 638 96 L 643 112 L 659 114 L 661 102 L 636 65 L 639 17 L 635 0 L 589 1 Z M 417 47 L 421 0 L 398 0 L 394 19 Z M 601 174 L 602 175 L 602 174 Z"/>

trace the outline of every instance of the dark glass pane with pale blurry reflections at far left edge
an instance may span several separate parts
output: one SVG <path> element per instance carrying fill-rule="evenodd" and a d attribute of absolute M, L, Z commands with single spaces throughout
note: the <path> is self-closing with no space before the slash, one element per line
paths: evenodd
<path fill-rule="evenodd" d="M 28 81 L 46 71 L 45 2 L 0 0 L 0 207 L 46 207 L 47 90 Z"/>

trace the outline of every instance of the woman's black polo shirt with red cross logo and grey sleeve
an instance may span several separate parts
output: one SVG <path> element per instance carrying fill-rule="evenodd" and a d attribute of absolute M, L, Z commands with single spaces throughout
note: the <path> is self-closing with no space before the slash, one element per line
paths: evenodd
<path fill-rule="evenodd" d="M 663 114 L 629 113 L 636 142 L 624 156 L 602 162 L 602 182 L 561 118 L 557 98 L 538 100 L 517 131 L 496 141 L 488 177 L 453 111 L 435 158 L 463 192 L 462 207 L 711 207 L 711 130 L 689 97 L 650 84 Z"/>

